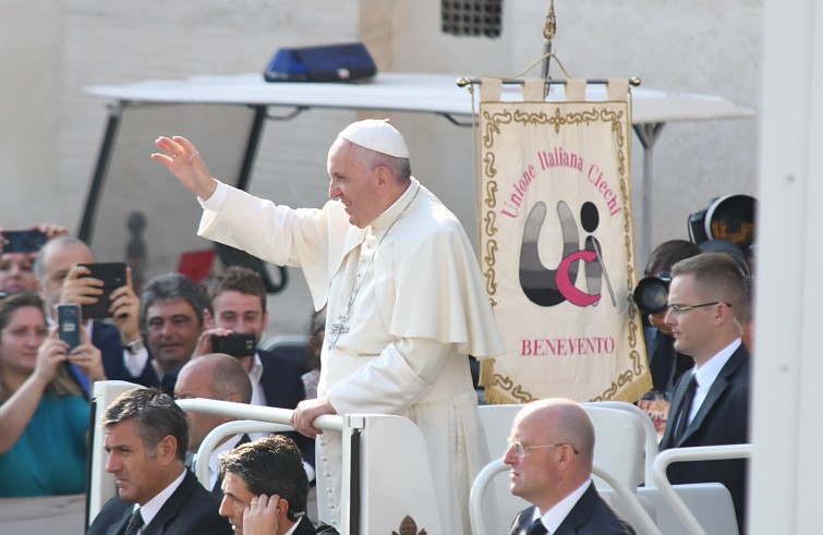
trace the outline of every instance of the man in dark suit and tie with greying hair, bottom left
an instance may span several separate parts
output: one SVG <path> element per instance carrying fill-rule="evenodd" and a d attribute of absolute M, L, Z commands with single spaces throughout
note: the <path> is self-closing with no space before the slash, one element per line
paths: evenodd
<path fill-rule="evenodd" d="M 88 535 L 231 535 L 218 502 L 183 465 L 185 414 L 157 389 L 119 396 L 102 418 L 106 471 L 118 496 L 94 519 Z"/>

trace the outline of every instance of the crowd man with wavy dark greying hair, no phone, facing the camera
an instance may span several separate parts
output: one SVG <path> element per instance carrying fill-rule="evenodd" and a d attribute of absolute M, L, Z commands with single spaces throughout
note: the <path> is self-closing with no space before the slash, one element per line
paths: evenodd
<path fill-rule="evenodd" d="M 209 308 L 206 293 L 183 275 L 158 275 L 146 282 L 141 329 L 164 391 L 174 390 L 177 373 L 192 357 Z"/>

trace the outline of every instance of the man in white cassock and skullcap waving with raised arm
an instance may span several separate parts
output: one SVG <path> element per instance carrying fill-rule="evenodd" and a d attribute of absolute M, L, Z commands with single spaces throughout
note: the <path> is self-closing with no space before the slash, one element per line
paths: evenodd
<path fill-rule="evenodd" d="M 339 526 L 342 449 L 339 434 L 312 422 L 399 414 L 427 442 L 445 533 L 471 533 L 469 490 L 488 452 L 467 355 L 496 356 L 504 345 L 465 231 L 411 177 L 402 135 L 379 120 L 340 132 L 328 153 L 331 200 L 320 209 L 215 180 L 183 137 L 156 144 L 162 153 L 152 158 L 201 199 L 201 235 L 301 267 L 315 308 L 328 305 L 318 398 L 291 420 L 317 437 L 319 518 Z"/>

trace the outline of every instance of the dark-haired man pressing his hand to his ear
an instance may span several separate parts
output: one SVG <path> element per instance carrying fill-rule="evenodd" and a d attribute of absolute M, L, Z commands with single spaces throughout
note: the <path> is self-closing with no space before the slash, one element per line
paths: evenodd
<path fill-rule="evenodd" d="M 315 532 L 305 514 L 308 479 L 300 449 L 290 438 L 261 438 L 220 453 L 218 462 L 223 490 L 220 514 L 235 534 L 335 533 L 326 526 Z"/>

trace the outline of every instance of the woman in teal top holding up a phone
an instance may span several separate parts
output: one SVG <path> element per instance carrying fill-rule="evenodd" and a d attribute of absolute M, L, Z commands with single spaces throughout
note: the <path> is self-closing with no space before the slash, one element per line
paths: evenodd
<path fill-rule="evenodd" d="M 0 301 L 0 498 L 85 490 L 89 409 L 68 361 L 105 378 L 84 329 L 71 352 L 49 333 L 37 294 Z"/>

